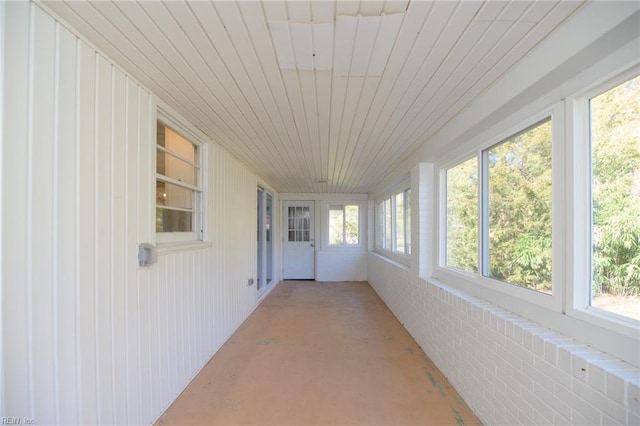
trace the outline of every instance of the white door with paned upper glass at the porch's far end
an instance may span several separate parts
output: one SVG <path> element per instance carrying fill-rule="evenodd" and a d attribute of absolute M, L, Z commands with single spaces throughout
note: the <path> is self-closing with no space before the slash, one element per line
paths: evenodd
<path fill-rule="evenodd" d="M 315 278 L 315 243 L 313 241 L 313 201 L 285 201 L 284 258 L 285 279 Z"/>

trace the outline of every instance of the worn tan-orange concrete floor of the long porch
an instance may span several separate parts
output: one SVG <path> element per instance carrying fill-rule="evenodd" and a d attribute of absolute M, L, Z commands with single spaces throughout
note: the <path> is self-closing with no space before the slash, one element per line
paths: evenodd
<path fill-rule="evenodd" d="M 284 281 L 157 424 L 480 421 L 367 283 Z"/>

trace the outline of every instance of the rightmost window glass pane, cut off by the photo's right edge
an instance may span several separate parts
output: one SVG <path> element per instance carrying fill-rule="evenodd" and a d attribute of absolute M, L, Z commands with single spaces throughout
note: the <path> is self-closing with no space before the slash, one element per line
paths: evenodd
<path fill-rule="evenodd" d="M 591 304 L 640 319 L 640 76 L 591 99 Z"/>

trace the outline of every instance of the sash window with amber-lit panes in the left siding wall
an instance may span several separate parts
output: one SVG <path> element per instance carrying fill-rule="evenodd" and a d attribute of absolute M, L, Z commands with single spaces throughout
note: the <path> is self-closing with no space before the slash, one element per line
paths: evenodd
<path fill-rule="evenodd" d="M 162 121 L 156 135 L 158 240 L 202 239 L 200 146 Z"/>

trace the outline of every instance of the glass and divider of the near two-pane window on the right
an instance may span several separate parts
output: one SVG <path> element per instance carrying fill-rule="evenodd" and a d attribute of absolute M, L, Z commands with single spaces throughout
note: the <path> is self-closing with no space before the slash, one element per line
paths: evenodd
<path fill-rule="evenodd" d="M 552 292 L 551 131 L 547 118 L 446 170 L 446 266 Z"/>

